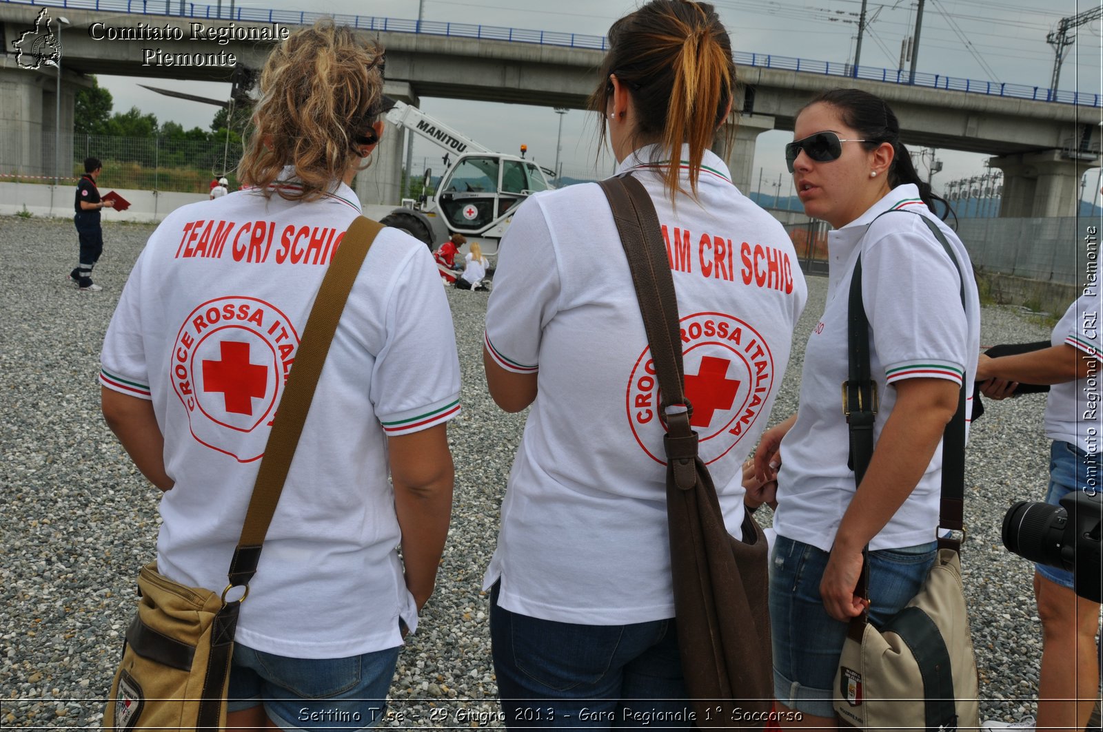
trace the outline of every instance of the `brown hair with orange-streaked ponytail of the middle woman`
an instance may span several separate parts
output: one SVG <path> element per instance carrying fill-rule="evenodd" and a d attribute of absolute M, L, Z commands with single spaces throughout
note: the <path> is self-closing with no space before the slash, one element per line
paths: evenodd
<path fill-rule="evenodd" d="M 634 142 L 658 142 L 660 160 L 670 161 L 663 183 L 671 198 L 679 191 L 696 197 L 702 159 L 724 122 L 736 82 L 731 41 L 719 15 L 706 2 L 652 0 L 613 23 L 609 45 L 590 108 L 604 120 L 609 77 L 615 74 L 632 96 L 639 120 Z M 599 140 L 606 134 L 602 121 Z M 689 192 L 678 180 L 683 143 L 689 146 Z"/>

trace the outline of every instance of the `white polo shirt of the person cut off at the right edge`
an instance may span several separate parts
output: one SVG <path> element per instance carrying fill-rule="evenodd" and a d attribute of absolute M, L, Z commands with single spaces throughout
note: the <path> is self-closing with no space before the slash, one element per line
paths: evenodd
<path fill-rule="evenodd" d="M 1103 422 L 1100 419 L 1100 295 L 1099 288 L 1088 288 L 1069 305 L 1058 321 L 1050 340 L 1062 343 L 1096 359 L 1094 373 L 1081 379 L 1054 384 L 1046 399 L 1046 437 L 1074 444 L 1086 453 L 1099 454 Z"/>

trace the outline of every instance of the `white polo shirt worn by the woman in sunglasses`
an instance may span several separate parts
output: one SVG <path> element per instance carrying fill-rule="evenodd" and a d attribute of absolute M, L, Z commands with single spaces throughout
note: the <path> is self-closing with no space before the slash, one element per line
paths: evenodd
<path fill-rule="evenodd" d="M 889 209 L 914 213 L 877 218 Z M 939 225 L 957 257 L 965 280 L 964 309 L 962 277 L 917 213 Z M 919 200 L 914 185 L 897 186 L 856 220 L 828 233 L 827 250 L 827 303 L 804 351 L 796 422 L 781 443 L 773 520 L 780 536 L 824 551 L 831 551 L 855 492 L 854 471 L 847 467 L 849 431 L 843 416 L 842 385 L 848 367 L 850 279 L 859 250 L 870 369 L 880 396 L 875 444 L 896 403 L 891 385 L 908 378 L 972 385 L 981 343 L 981 305 L 968 254 L 953 230 Z M 966 415 L 971 413 L 971 401 L 966 402 Z M 869 548 L 893 549 L 934 540 L 941 481 L 940 444 L 919 484 L 870 540 Z"/>

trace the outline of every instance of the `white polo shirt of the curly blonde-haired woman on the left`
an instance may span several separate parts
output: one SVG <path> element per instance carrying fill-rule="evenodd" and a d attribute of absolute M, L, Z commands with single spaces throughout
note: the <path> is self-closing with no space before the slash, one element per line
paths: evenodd
<path fill-rule="evenodd" d="M 153 402 L 175 481 L 160 504 L 169 578 L 226 586 L 307 315 L 358 215 L 345 185 L 312 203 L 240 191 L 178 208 L 138 258 L 99 380 Z M 396 553 L 386 438 L 454 417 L 459 387 L 432 257 L 384 229 L 334 335 L 242 604 L 240 643 L 303 658 L 401 644 L 398 618 L 413 628 L 417 612 Z"/>

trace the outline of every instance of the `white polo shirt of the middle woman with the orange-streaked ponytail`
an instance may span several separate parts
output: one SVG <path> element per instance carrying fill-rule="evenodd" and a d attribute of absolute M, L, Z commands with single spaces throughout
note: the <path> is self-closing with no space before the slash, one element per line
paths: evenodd
<path fill-rule="evenodd" d="M 789 362 L 807 295 L 781 225 L 705 154 L 699 200 L 665 200 L 639 151 L 634 170 L 672 263 L 686 388 L 700 454 L 729 531 L 743 517 L 740 463 Z M 688 182 L 683 180 L 686 187 Z M 664 428 L 628 259 L 604 194 L 571 185 L 529 197 L 502 240 L 486 348 L 536 374 L 484 586 L 532 617 L 623 624 L 673 617 Z"/>

